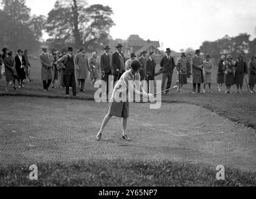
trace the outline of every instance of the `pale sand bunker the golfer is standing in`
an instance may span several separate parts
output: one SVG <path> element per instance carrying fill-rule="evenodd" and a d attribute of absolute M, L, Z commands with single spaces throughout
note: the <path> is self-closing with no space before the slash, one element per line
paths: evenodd
<path fill-rule="evenodd" d="M 12 103 L 10 103 L 10 100 Z M 107 103 L 1 97 L 0 161 L 35 164 L 78 159 L 179 160 L 256 171 L 256 132 L 191 104 L 131 104 L 127 134 L 121 120 L 95 141 Z"/>

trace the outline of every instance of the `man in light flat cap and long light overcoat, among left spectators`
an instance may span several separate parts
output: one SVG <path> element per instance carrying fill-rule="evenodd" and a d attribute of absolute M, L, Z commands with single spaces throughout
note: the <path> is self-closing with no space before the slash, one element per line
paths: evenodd
<path fill-rule="evenodd" d="M 48 91 L 50 83 L 52 82 L 53 60 L 50 57 L 50 54 L 47 53 L 47 46 L 43 45 L 41 49 L 42 53 L 39 55 L 42 65 L 41 78 L 44 86 L 44 91 Z"/>

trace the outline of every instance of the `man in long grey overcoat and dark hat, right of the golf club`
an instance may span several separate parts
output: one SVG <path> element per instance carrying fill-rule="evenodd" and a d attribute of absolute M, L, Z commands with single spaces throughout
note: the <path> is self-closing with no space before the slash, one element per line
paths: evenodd
<path fill-rule="evenodd" d="M 191 59 L 193 93 L 196 93 L 196 86 L 197 93 L 201 93 L 201 83 L 204 83 L 204 65 L 200 53 L 200 50 L 196 50 L 196 55 Z"/>

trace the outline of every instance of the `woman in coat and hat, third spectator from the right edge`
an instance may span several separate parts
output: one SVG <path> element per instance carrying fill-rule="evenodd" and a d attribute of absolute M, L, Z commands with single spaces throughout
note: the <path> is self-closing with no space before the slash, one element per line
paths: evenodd
<path fill-rule="evenodd" d="M 234 68 L 235 64 L 232 62 L 232 56 L 227 55 L 227 61 L 224 62 L 225 66 L 225 85 L 226 85 L 226 91 L 225 93 L 230 93 L 230 88 L 232 85 L 234 85 Z"/>

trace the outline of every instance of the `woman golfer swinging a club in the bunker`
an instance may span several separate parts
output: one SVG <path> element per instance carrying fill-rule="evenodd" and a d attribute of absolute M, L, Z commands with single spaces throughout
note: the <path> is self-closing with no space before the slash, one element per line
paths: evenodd
<path fill-rule="evenodd" d="M 149 96 L 153 98 L 152 94 L 148 94 L 143 90 L 143 87 L 140 83 L 140 68 L 141 63 L 138 60 L 133 60 L 131 62 L 131 69 L 123 73 L 120 80 L 116 83 L 116 86 L 113 90 L 113 94 L 110 99 L 110 104 L 108 105 L 107 110 L 107 116 L 105 116 L 102 127 L 100 128 L 100 131 L 97 134 L 97 141 L 100 141 L 102 139 L 102 133 L 105 129 L 105 127 L 108 124 L 108 121 L 113 116 L 116 116 L 118 118 L 123 118 L 123 134 L 121 139 L 125 139 L 126 141 L 131 141 L 130 138 L 126 135 L 126 127 L 127 127 L 127 121 L 128 117 L 130 116 L 129 113 L 129 102 L 128 102 L 128 93 L 131 91 L 135 91 L 135 95 L 143 96 L 143 98 L 148 98 Z M 133 83 L 135 82 L 136 86 L 134 88 Z M 137 90 L 137 89 L 140 89 Z M 125 93 L 125 99 L 123 101 L 117 102 L 116 96 L 120 96 L 118 93 Z"/>

